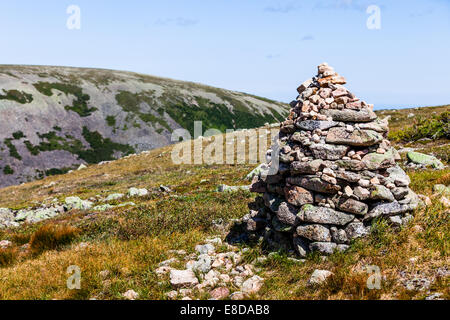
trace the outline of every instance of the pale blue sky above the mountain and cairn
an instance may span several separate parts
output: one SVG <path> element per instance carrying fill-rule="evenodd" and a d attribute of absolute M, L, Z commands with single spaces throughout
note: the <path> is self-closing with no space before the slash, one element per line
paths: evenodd
<path fill-rule="evenodd" d="M 66 27 L 69 5 L 80 30 Z M 129 70 L 289 102 L 326 61 L 377 108 L 450 103 L 450 0 L 2 1 L 0 35 L 0 64 Z"/>

